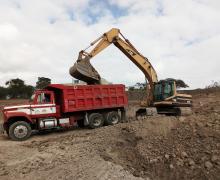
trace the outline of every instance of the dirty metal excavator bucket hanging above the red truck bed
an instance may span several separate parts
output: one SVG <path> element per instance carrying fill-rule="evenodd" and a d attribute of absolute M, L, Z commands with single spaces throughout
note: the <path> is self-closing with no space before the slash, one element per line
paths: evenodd
<path fill-rule="evenodd" d="M 72 77 L 86 82 L 87 84 L 100 84 L 101 77 L 90 63 L 90 57 L 82 58 L 79 55 L 78 60 L 70 68 L 69 73 Z"/>

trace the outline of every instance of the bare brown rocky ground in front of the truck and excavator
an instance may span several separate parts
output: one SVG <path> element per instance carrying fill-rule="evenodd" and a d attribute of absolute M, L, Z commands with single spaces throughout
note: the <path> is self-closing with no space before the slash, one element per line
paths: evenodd
<path fill-rule="evenodd" d="M 132 109 L 132 105 L 131 105 Z M 0 136 L 0 179 L 219 179 L 220 92 L 194 94 L 193 115 Z"/>

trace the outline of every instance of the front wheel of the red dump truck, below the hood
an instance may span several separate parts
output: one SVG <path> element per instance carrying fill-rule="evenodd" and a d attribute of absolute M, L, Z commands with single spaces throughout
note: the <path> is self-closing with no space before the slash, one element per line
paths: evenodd
<path fill-rule="evenodd" d="M 31 126 L 25 121 L 17 121 L 10 125 L 8 135 L 14 141 L 24 141 L 31 135 Z"/>

